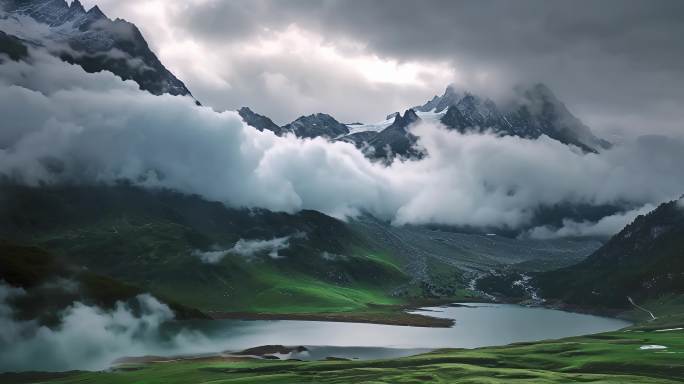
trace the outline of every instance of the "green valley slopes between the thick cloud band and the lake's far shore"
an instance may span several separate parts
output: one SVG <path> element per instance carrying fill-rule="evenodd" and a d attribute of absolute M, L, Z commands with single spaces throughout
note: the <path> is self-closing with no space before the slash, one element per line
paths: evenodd
<path fill-rule="evenodd" d="M 571 264 L 599 244 L 395 227 L 371 216 L 344 223 L 316 212 L 235 210 L 125 185 L 6 185 L 2 194 L 5 238 L 219 318 L 444 324 L 403 309 L 476 301 L 482 295 L 467 289 L 472 276 L 523 262 Z M 230 251 L 241 239 L 285 237 L 276 258 L 271 248 Z M 221 259 L 207 263 L 202 252 Z"/>

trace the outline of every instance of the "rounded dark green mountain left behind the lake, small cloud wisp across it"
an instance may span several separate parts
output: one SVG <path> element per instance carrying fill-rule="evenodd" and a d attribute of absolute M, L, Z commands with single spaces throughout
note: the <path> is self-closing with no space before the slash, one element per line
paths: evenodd
<path fill-rule="evenodd" d="M 203 312 L 345 311 L 409 281 L 346 223 L 128 186 L 0 184 L 0 240 Z M 0 264 L 2 267 L 2 264 Z"/>

